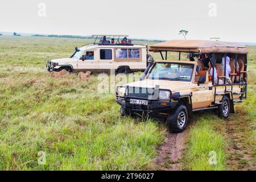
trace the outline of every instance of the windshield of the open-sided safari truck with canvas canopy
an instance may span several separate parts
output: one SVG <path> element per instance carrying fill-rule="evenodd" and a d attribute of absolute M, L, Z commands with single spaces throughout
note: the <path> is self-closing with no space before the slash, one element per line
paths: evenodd
<path fill-rule="evenodd" d="M 151 80 L 172 80 L 191 81 L 193 74 L 193 64 L 185 63 L 155 63 L 148 79 Z"/>

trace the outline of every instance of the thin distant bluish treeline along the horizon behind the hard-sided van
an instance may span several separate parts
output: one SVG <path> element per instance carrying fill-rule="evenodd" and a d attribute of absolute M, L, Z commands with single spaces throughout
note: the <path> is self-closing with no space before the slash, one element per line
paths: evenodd
<path fill-rule="evenodd" d="M 80 36 L 80 35 L 40 35 L 35 34 L 31 36 L 44 36 L 48 38 L 72 38 L 72 39 L 94 39 L 92 36 Z M 112 39 L 111 37 L 108 37 L 108 39 Z M 148 42 L 164 42 L 163 40 L 148 40 L 148 39 L 131 39 L 135 41 L 148 41 Z"/>

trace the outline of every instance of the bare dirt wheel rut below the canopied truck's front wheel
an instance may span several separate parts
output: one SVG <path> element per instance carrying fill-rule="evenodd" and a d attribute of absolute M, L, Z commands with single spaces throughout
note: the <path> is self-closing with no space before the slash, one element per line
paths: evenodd
<path fill-rule="evenodd" d="M 155 160 L 156 169 L 163 171 L 178 171 L 182 167 L 180 160 L 184 150 L 186 132 L 166 134 L 166 141 L 158 148 L 158 158 Z"/>

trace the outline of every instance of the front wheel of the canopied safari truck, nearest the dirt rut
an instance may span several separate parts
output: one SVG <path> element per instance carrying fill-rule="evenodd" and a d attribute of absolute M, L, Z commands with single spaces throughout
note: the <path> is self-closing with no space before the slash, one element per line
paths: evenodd
<path fill-rule="evenodd" d="M 188 122 L 188 110 L 184 105 L 180 105 L 174 113 L 167 118 L 167 123 L 173 133 L 180 133 L 185 130 Z"/>

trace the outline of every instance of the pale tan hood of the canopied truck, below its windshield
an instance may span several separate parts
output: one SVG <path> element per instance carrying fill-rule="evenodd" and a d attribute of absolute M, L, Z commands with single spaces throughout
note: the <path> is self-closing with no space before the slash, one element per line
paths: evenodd
<path fill-rule="evenodd" d="M 192 83 L 187 81 L 169 81 L 169 80 L 142 80 L 126 84 L 128 86 L 141 87 L 141 88 L 155 88 L 159 85 L 160 89 L 170 89 L 172 92 L 179 92 L 191 87 Z M 124 86 L 126 86 L 124 85 Z"/>

